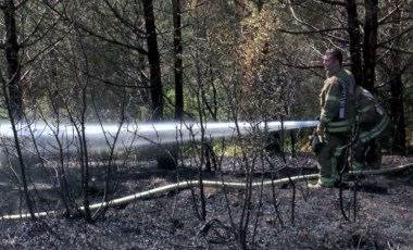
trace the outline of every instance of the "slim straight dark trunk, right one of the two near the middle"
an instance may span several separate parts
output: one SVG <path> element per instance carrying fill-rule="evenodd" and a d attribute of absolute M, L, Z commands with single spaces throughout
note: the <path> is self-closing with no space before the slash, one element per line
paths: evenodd
<path fill-rule="evenodd" d="M 180 0 L 172 0 L 174 18 L 174 72 L 175 72 L 175 120 L 184 116 L 183 36 L 180 24 Z"/>

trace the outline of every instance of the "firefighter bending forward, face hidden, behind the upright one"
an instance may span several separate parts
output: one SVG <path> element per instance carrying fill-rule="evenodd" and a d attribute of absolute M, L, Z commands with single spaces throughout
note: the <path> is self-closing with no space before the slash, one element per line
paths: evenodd
<path fill-rule="evenodd" d="M 381 163 L 380 137 L 387 130 L 390 118 L 373 95 L 362 88 L 355 89 L 356 141 L 353 147 L 353 171 L 379 168 Z"/>

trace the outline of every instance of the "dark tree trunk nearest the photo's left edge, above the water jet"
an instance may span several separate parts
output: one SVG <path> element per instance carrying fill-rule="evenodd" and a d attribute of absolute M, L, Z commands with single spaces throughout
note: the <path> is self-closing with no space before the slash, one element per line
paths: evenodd
<path fill-rule="evenodd" d="M 20 46 L 17 41 L 17 29 L 15 22 L 15 7 L 13 0 L 7 0 L 2 5 L 5 26 L 5 61 L 8 63 L 8 91 L 10 97 L 10 109 L 14 120 L 22 118 L 23 95 L 20 86 L 21 65 L 18 62 Z"/>

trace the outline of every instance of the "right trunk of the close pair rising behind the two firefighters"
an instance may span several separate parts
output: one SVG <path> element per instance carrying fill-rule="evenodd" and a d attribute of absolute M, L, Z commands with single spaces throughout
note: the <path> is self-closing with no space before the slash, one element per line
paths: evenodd
<path fill-rule="evenodd" d="M 363 59 L 364 71 L 362 86 L 371 92 L 374 92 L 375 67 L 376 67 L 376 50 L 377 50 L 377 12 L 378 0 L 365 0 L 364 16 L 364 42 Z M 360 82 L 361 83 L 361 82 Z"/>

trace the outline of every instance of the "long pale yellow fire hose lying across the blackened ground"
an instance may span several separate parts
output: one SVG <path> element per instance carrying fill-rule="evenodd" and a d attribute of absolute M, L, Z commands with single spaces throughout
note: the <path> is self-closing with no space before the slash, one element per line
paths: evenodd
<path fill-rule="evenodd" d="M 400 165 L 400 166 L 395 166 L 395 167 L 388 167 L 388 168 L 381 168 L 381 170 L 368 170 L 368 171 L 354 171 L 350 172 L 352 175 L 379 175 L 379 174 L 388 174 L 388 173 L 395 173 L 395 172 L 400 172 L 400 171 L 405 171 L 409 170 L 410 167 L 413 166 L 413 163 L 409 163 L 405 165 Z M 290 178 L 280 178 L 280 179 L 275 179 L 275 180 L 266 180 L 266 182 L 256 182 L 252 183 L 252 187 L 271 187 L 271 186 L 280 186 L 284 184 L 289 184 L 291 180 L 292 182 L 300 182 L 300 180 L 311 180 L 311 179 L 317 179 L 318 174 L 311 174 L 311 175 L 299 175 L 299 176 L 292 176 Z M 245 188 L 246 184 L 245 183 L 226 183 L 226 182 L 220 182 L 220 180 L 202 180 L 202 184 L 204 187 L 213 187 L 213 188 Z M 147 191 L 142 192 L 137 192 L 132 196 L 126 196 L 123 198 L 114 199 L 108 202 L 101 202 L 101 203 L 96 203 L 91 204 L 89 209 L 91 211 L 96 211 L 98 209 L 102 208 L 114 208 L 114 207 L 120 207 L 130 202 L 134 202 L 138 199 L 145 199 L 145 198 L 150 198 L 153 197 L 154 195 L 158 193 L 163 193 L 163 192 L 168 192 L 168 191 L 174 191 L 174 190 L 183 190 L 191 187 L 198 187 L 199 186 L 199 180 L 185 180 L 180 182 L 177 184 L 170 184 L 163 187 L 158 187 L 153 188 Z M 85 210 L 84 207 L 80 207 L 80 210 Z M 35 213 L 37 217 L 42 217 L 51 214 L 57 214 L 59 211 L 49 211 L 49 212 L 38 212 Z M 13 215 L 2 215 L 0 220 L 18 220 L 18 218 L 29 218 L 30 214 L 13 214 Z"/>

